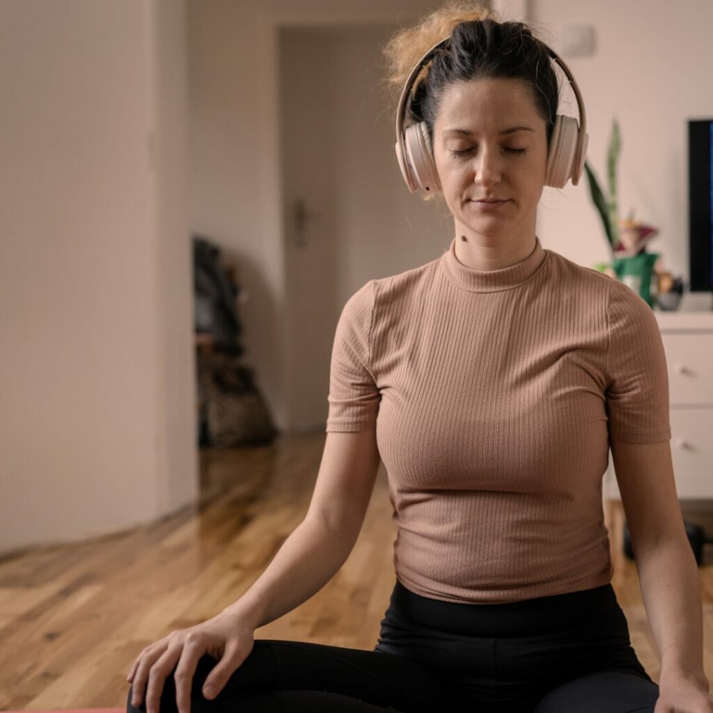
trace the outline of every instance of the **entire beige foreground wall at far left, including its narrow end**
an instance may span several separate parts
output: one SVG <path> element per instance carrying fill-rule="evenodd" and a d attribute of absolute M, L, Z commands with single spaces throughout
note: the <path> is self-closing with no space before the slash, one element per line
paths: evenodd
<path fill-rule="evenodd" d="M 185 6 L 0 4 L 0 550 L 197 493 Z"/>

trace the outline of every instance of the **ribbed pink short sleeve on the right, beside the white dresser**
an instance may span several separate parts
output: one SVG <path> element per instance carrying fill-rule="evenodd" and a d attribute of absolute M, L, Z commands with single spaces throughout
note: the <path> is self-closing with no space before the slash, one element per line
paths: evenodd
<path fill-rule="evenodd" d="M 607 347 L 609 438 L 656 443 L 671 438 L 669 381 L 661 330 L 651 307 L 612 279 Z"/>

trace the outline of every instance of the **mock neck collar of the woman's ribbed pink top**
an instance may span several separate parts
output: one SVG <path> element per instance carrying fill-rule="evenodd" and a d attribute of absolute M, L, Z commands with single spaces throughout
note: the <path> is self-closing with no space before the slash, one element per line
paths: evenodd
<path fill-rule="evenodd" d="M 457 236 L 456 236 L 457 237 Z M 515 265 L 503 267 L 501 270 L 473 270 L 466 267 L 456 257 L 456 237 L 451 240 L 451 246 L 441 257 L 443 270 L 452 282 L 468 292 L 500 292 L 527 282 L 547 257 L 547 251 L 542 247 L 540 238 L 535 235 L 535 248 L 524 260 Z"/>

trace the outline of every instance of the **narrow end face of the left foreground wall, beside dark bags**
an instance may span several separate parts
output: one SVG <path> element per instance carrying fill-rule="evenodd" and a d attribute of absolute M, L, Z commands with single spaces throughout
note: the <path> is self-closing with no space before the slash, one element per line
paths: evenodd
<path fill-rule="evenodd" d="M 157 514 L 198 496 L 198 418 L 190 234 L 188 28 L 185 0 L 150 0 L 159 332 Z"/>

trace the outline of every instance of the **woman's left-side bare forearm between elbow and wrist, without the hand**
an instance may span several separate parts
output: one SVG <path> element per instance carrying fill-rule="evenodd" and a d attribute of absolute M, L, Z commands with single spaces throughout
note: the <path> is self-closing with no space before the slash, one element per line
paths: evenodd
<path fill-rule="evenodd" d="M 224 612 L 240 612 L 257 629 L 312 597 L 349 557 L 358 532 L 335 532 L 305 518 L 284 540 L 260 578 Z"/>

